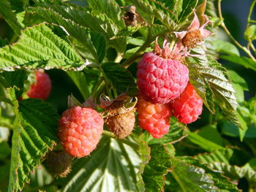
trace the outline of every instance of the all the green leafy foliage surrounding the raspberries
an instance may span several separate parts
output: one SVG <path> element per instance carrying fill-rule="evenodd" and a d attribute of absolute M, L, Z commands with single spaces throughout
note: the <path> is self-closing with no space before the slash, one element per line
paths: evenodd
<path fill-rule="evenodd" d="M 135 25 L 126 26 L 131 4 Z M 221 0 L 1 0 L 0 20 L 10 33 L 0 37 L 0 191 L 253 191 L 255 4 L 244 47 L 225 26 Z M 67 177 L 53 177 L 45 159 L 50 150 L 63 150 L 57 132 L 67 101 L 99 106 L 102 98 L 138 96 L 136 64 L 143 53 L 156 38 L 173 47 L 173 32 L 186 30 L 193 10 L 202 26 L 205 6 L 211 37 L 181 59 L 203 99 L 200 119 L 184 125 L 171 117 L 161 139 L 138 122 L 125 139 L 105 128 L 96 150 L 75 158 Z M 220 28 L 231 41 L 219 37 Z M 47 101 L 26 99 L 37 69 L 53 82 Z"/>

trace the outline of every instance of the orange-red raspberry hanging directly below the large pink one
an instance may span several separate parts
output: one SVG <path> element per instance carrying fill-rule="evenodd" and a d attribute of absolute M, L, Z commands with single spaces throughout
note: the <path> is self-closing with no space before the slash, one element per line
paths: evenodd
<path fill-rule="evenodd" d="M 138 123 L 154 138 L 161 138 L 169 131 L 171 110 L 168 104 L 151 104 L 143 99 L 138 100 Z"/>

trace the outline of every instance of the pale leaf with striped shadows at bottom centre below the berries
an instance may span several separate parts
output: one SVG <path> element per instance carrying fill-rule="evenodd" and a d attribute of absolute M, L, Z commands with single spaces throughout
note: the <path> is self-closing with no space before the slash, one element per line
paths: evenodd
<path fill-rule="evenodd" d="M 79 158 L 72 164 L 62 191 L 137 191 L 139 163 L 138 153 L 132 147 L 118 139 L 102 137 L 90 157 Z"/>

